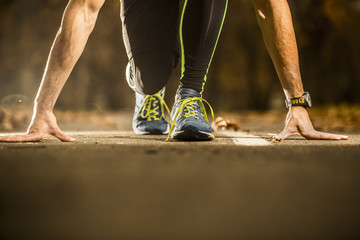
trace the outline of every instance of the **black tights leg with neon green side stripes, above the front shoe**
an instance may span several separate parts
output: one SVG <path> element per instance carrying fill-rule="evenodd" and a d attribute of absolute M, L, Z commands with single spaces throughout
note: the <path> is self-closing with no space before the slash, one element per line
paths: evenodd
<path fill-rule="evenodd" d="M 185 0 L 180 23 L 181 88 L 202 94 L 227 9 L 227 0 Z"/>

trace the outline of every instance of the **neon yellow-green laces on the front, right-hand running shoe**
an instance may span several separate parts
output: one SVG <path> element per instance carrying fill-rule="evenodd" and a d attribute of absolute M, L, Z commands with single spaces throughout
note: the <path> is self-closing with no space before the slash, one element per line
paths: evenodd
<path fill-rule="evenodd" d="M 189 117 L 194 117 L 195 119 L 199 119 L 199 113 L 195 110 L 196 108 L 196 103 L 198 102 L 200 104 L 200 107 L 203 111 L 203 114 L 204 114 L 204 118 L 207 122 L 209 122 L 209 119 L 207 117 L 207 114 L 206 114 L 206 109 L 205 109 L 205 106 L 204 106 L 204 103 L 205 102 L 209 108 L 210 108 L 210 111 L 211 111 L 211 117 L 212 119 L 214 120 L 214 111 L 210 105 L 210 103 L 208 103 L 208 101 L 206 101 L 205 99 L 201 98 L 201 97 L 193 97 L 193 98 L 186 98 L 186 99 L 183 99 L 183 100 L 180 100 L 181 104 L 174 116 L 174 120 L 173 122 L 171 123 L 171 128 L 170 128 L 170 132 L 169 132 L 169 135 L 166 139 L 166 141 L 168 141 L 171 137 L 171 134 L 172 132 L 174 131 L 174 128 L 175 128 L 175 122 L 176 122 L 176 119 L 177 117 L 179 116 L 179 114 L 181 113 L 181 111 L 184 109 L 184 112 L 185 114 L 184 115 L 181 115 L 181 117 L 183 118 L 189 118 Z"/>

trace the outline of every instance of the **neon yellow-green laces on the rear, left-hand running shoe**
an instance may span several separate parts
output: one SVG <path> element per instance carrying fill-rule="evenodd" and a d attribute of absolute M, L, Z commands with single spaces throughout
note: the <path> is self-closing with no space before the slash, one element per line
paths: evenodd
<path fill-rule="evenodd" d="M 161 115 L 159 116 L 159 102 L 160 102 L 160 111 Z M 144 100 L 144 104 L 141 111 L 141 117 L 145 118 L 147 121 L 161 120 L 165 118 L 164 107 L 168 114 L 170 115 L 170 110 L 166 105 L 163 97 L 156 93 L 154 95 L 147 95 Z"/>

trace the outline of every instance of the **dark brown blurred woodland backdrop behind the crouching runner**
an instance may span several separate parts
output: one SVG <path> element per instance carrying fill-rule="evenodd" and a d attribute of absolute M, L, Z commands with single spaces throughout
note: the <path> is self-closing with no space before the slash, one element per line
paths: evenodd
<path fill-rule="evenodd" d="M 66 0 L 0 0 L 0 122 L 31 108 Z M 289 0 L 305 90 L 315 106 L 360 103 L 360 0 Z M 107 0 L 57 110 L 131 109 L 119 1 Z M 179 69 L 168 84 L 172 104 Z M 264 46 L 252 3 L 229 1 L 205 98 L 216 111 L 284 109 L 284 95 Z M 350 109 L 350 110 L 349 110 Z M 13 110 L 15 111 L 15 110 Z M 16 110 L 17 111 L 17 110 Z M 129 110 L 130 111 L 130 110 Z M 359 115 L 354 115 L 357 118 Z"/>

